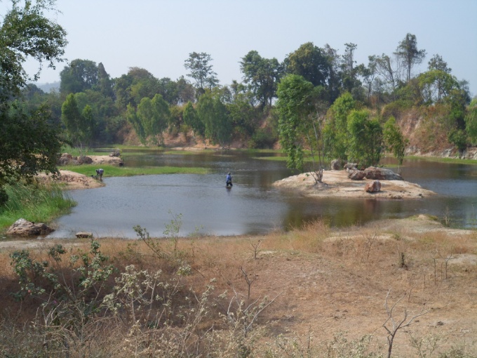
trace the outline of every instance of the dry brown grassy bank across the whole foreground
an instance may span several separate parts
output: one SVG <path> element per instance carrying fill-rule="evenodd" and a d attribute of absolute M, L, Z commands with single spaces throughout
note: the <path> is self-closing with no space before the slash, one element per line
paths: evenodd
<path fill-rule="evenodd" d="M 444 230 L 414 232 L 414 221 L 403 222 L 391 234 L 379 225 L 343 231 L 318 220 L 289 232 L 260 236 L 181 237 L 177 246 L 173 238 L 149 238 L 149 245 L 142 240 L 100 239 L 100 250 L 109 260 L 90 270 L 101 274 L 111 263 L 116 267 L 114 277 L 128 278 L 129 286 L 123 287 L 119 295 L 123 300 L 116 301 L 118 309 L 113 315 L 102 305 L 105 294 L 121 293 L 112 289 L 119 281 L 110 277 L 108 285 L 102 286 L 110 291 L 86 296 L 98 299 L 98 312 L 76 326 L 74 320 L 83 312 L 76 309 L 83 307 L 83 300 L 72 306 L 62 301 L 62 310 L 56 311 L 58 324 L 36 316 L 37 310 L 49 312 L 42 311 L 41 303 L 53 310 L 58 303 L 29 297 L 15 302 L 9 293 L 18 291 L 18 277 L 12 273 L 10 252 L 0 251 L 0 347 L 15 357 L 53 357 L 54 352 L 46 351 L 53 348 L 62 352 L 58 356 L 69 353 L 70 357 L 350 357 L 358 348 L 365 353 L 354 357 L 385 357 L 383 305 L 392 289 L 389 299 L 393 303 L 405 293 L 396 305 L 396 319 L 404 309 L 411 317 L 424 303 L 431 310 L 410 326 L 410 332 L 419 339 L 436 334 L 448 337 L 439 341 L 436 357 L 476 357 L 472 334 L 476 312 L 471 298 L 477 293 L 477 268 L 475 263 L 459 261 L 450 261 L 446 267 L 445 260 L 450 253 L 476 254 L 477 236 Z M 53 244 L 67 246 L 62 260 L 48 258 L 48 247 Z M 70 266 L 69 258 L 83 257 L 90 252 L 88 246 L 85 240 L 45 242 L 29 249 L 30 258 L 49 262 L 48 274 L 61 275 L 60 284 L 74 284 L 71 278 L 79 274 L 82 264 L 76 260 Z M 405 268 L 398 265 L 400 253 L 405 253 Z M 128 273 L 130 265 L 142 274 Z M 153 274 L 159 281 L 152 280 Z M 44 284 L 33 276 L 30 279 Z M 152 299 L 147 285 L 154 288 L 160 302 Z M 215 289 L 205 296 L 210 285 Z M 49 293 L 43 295 L 49 298 Z M 250 317 L 237 309 L 235 293 L 243 299 L 243 309 L 265 297 L 280 296 L 243 336 L 244 325 L 232 322 L 235 317 L 243 322 Z M 74 315 L 62 324 L 62 315 L 72 308 Z M 227 317 L 227 312 L 234 314 Z M 164 323 L 152 324 L 157 317 Z M 81 334 L 69 327 L 81 327 Z M 372 339 L 360 347 L 365 335 Z M 45 337 L 48 345 L 43 344 Z M 55 342 L 60 344 L 55 346 Z M 418 357 L 405 333 L 398 333 L 395 344 L 393 357 Z M 170 354 L 168 347 L 173 350 Z M 457 347 L 464 354 L 444 355 Z M 244 350 L 250 353 L 238 354 Z"/>

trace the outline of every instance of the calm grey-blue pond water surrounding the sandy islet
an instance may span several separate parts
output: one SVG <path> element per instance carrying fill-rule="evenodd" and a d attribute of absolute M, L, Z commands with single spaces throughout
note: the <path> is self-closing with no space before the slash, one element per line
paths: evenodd
<path fill-rule="evenodd" d="M 48 237 L 74 237 L 78 231 L 96 237 L 137 237 L 141 225 L 152 236 L 164 236 L 166 225 L 182 214 L 180 234 L 261 234 L 326 218 L 335 226 L 379 218 L 405 218 L 426 213 L 450 216 L 456 227 L 477 227 L 477 166 L 405 161 L 402 175 L 439 195 L 429 199 L 309 199 L 271 187 L 289 175 L 284 161 L 269 161 L 236 152 L 143 154 L 126 157 L 128 166 L 204 166 L 208 175 L 144 175 L 105 178 L 105 187 L 72 190 L 78 205 L 57 220 Z M 270 154 L 268 154 L 270 155 Z M 234 176 L 227 190 L 225 175 Z"/>

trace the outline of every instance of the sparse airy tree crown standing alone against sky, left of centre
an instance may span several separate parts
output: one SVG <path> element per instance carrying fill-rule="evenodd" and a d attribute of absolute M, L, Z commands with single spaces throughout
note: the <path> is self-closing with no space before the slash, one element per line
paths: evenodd
<path fill-rule="evenodd" d="M 184 67 L 190 71 L 187 76 L 192 77 L 196 81 L 199 95 L 202 95 L 206 88 L 211 89 L 219 84 L 217 74 L 213 72 L 210 61 L 212 61 L 212 58 L 205 52 L 189 53 L 189 58 L 184 61 Z"/>

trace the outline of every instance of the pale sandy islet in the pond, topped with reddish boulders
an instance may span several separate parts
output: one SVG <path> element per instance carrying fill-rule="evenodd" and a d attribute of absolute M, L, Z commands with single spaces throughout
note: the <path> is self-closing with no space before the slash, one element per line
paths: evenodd
<path fill-rule="evenodd" d="M 307 197 L 420 199 L 436 194 L 405 180 L 379 180 L 381 182 L 380 192 L 365 192 L 366 183 L 372 181 L 369 179 L 351 180 L 346 171 L 323 171 L 323 183 L 315 184 L 311 175 L 302 173 L 278 180 L 274 186 L 297 190 Z"/>

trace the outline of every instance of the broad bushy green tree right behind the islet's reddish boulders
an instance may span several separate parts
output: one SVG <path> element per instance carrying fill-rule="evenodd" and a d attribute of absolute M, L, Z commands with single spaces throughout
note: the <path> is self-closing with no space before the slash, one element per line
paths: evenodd
<path fill-rule="evenodd" d="M 353 110 L 347 119 L 347 157 L 361 168 L 379 164 L 382 153 L 381 125 L 369 116 L 367 110 Z"/>

